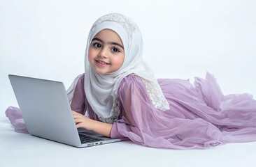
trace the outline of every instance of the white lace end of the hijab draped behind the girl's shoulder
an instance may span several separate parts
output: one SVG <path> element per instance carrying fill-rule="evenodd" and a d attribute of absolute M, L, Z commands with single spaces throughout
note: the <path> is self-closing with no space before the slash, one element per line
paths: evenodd
<path fill-rule="evenodd" d="M 167 102 L 166 98 L 164 97 L 162 89 L 160 88 L 157 81 L 148 81 L 143 78 L 141 79 L 145 84 L 145 88 L 147 89 L 150 100 L 152 101 L 152 104 L 155 106 L 155 108 L 162 111 L 169 111 L 169 102 Z"/>

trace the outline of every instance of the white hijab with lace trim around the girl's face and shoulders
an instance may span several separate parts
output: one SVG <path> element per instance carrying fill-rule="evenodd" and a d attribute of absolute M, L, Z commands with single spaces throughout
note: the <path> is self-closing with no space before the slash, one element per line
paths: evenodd
<path fill-rule="evenodd" d="M 124 46 L 125 60 L 119 70 L 101 75 L 94 72 L 90 65 L 88 51 L 94 36 L 104 29 L 111 29 L 118 33 Z M 148 66 L 142 60 L 142 52 L 143 41 L 141 32 L 138 26 L 125 15 L 118 13 L 104 15 L 92 25 L 85 50 L 85 95 L 93 111 L 97 113 L 99 120 L 113 123 L 118 119 L 120 114 L 120 102 L 117 97 L 118 86 L 122 79 L 129 74 L 136 74 L 143 78 L 150 98 L 156 108 L 163 111 L 169 110 L 169 104 L 166 102 L 161 88 Z M 156 99 L 159 95 L 160 99 Z M 154 101 L 159 101 L 161 104 L 155 104 L 159 102 Z"/>

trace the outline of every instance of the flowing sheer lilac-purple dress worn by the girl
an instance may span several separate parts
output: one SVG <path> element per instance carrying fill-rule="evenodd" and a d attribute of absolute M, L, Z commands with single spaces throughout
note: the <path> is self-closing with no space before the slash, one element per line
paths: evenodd
<path fill-rule="evenodd" d="M 99 120 L 87 102 L 84 77 L 83 74 L 78 79 L 71 109 Z M 155 109 L 140 77 L 129 75 L 122 80 L 118 88 L 120 119 L 113 123 L 111 138 L 174 149 L 256 141 L 256 101 L 252 95 L 224 96 L 208 73 L 206 79 L 195 78 L 194 85 L 181 79 L 158 82 L 170 104 L 169 111 Z M 9 109 L 6 114 L 15 122 L 10 113 L 15 113 L 14 110 Z M 19 128 L 20 132 L 25 130 Z"/>

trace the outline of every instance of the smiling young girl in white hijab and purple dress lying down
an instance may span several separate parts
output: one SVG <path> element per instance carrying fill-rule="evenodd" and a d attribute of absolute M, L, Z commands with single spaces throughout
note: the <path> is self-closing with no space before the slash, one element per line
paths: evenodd
<path fill-rule="evenodd" d="M 158 79 L 143 63 L 143 42 L 131 19 L 100 17 L 87 38 L 85 74 L 68 90 L 77 127 L 154 148 L 208 148 L 256 141 L 256 101 L 224 96 L 215 78 Z M 15 115 L 16 114 L 16 115 Z M 16 131 L 19 110 L 6 111 Z"/>

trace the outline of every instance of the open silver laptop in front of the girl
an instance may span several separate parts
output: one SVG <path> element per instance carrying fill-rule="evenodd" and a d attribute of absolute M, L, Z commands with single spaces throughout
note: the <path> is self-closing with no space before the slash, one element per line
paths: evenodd
<path fill-rule="evenodd" d="M 77 129 L 62 82 L 12 74 L 8 77 L 29 134 L 77 148 L 121 141 Z"/>

